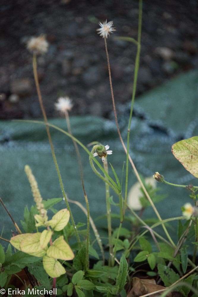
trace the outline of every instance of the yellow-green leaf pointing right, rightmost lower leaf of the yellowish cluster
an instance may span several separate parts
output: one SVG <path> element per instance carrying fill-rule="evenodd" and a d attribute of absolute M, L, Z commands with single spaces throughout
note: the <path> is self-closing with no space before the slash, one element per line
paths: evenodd
<path fill-rule="evenodd" d="M 53 245 L 47 249 L 47 256 L 61 260 L 72 260 L 74 253 L 69 244 L 64 241 L 63 236 L 60 236 L 53 242 Z"/>

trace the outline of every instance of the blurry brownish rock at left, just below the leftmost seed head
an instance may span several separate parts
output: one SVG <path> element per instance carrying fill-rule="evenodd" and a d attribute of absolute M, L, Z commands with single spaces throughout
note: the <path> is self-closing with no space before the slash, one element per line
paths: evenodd
<path fill-rule="evenodd" d="M 31 93 L 31 82 L 28 78 L 17 78 L 11 82 L 10 89 L 13 94 L 23 97 Z"/>

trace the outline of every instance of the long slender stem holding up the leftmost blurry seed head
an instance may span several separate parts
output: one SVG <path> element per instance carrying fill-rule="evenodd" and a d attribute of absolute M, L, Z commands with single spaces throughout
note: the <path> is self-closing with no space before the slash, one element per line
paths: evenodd
<path fill-rule="evenodd" d="M 77 228 L 76 228 L 76 225 L 75 225 L 75 221 L 74 221 L 74 217 L 72 215 L 72 212 L 71 212 L 69 203 L 67 201 L 67 195 L 66 195 L 66 192 L 64 190 L 64 185 L 63 185 L 63 181 L 62 181 L 62 178 L 61 178 L 61 173 L 60 173 L 60 170 L 59 170 L 59 167 L 58 167 L 58 163 L 57 163 L 57 160 L 56 160 L 56 154 L 55 154 L 54 146 L 53 146 L 53 143 L 52 143 L 50 129 L 49 129 L 49 126 L 48 126 L 48 123 L 47 123 L 47 116 L 46 116 L 46 113 L 45 113 L 45 108 L 43 106 L 43 100 L 42 100 L 40 86 L 39 86 L 39 80 L 38 80 L 38 74 L 37 74 L 37 57 L 36 57 L 35 54 L 33 55 L 33 72 L 34 72 L 34 80 L 35 80 L 35 84 L 36 84 L 36 88 L 37 88 L 37 93 L 38 93 L 38 98 L 39 98 L 39 104 L 40 104 L 40 107 L 41 107 L 41 110 L 42 110 L 42 114 L 43 114 L 43 118 L 44 118 L 46 130 L 47 130 L 47 136 L 48 136 L 50 147 L 51 147 L 53 161 L 54 161 L 54 164 L 55 164 L 55 167 L 56 167 L 56 171 L 57 171 L 57 174 L 58 174 L 58 179 L 59 179 L 61 191 L 62 191 L 64 200 L 66 202 L 66 206 L 67 206 L 67 208 L 69 210 L 69 213 L 70 213 L 70 218 L 71 218 L 72 226 L 74 228 L 74 232 L 75 232 L 75 235 L 76 235 L 76 238 L 77 238 L 77 242 L 78 242 L 79 246 L 81 246 L 80 236 L 78 234 L 78 231 L 77 231 Z"/>

